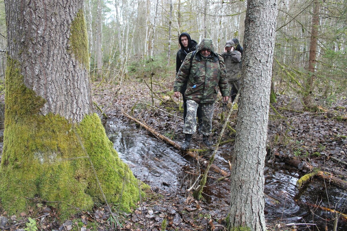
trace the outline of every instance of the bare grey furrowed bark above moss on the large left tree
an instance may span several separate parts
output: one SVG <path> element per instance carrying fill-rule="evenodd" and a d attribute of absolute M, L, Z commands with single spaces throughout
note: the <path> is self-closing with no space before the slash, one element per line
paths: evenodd
<path fill-rule="evenodd" d="M 81 121 L 92 109 L 90 83 L 84 78 L 89 67 L 88 43 L 82 41 L 81 50 L 87 50 L 77 51 L 76 41 L 71 41 L 76 38 L 69 27 L 83 2 L 70 2 L 74 1 L 6 1 L 6 23 L 11 28 L 7 46 L 8 56 L 20 63 L 25 86 L 46 100 L 41 113 Z M 82 32 L 86 35 L 86 29 Z"/>

